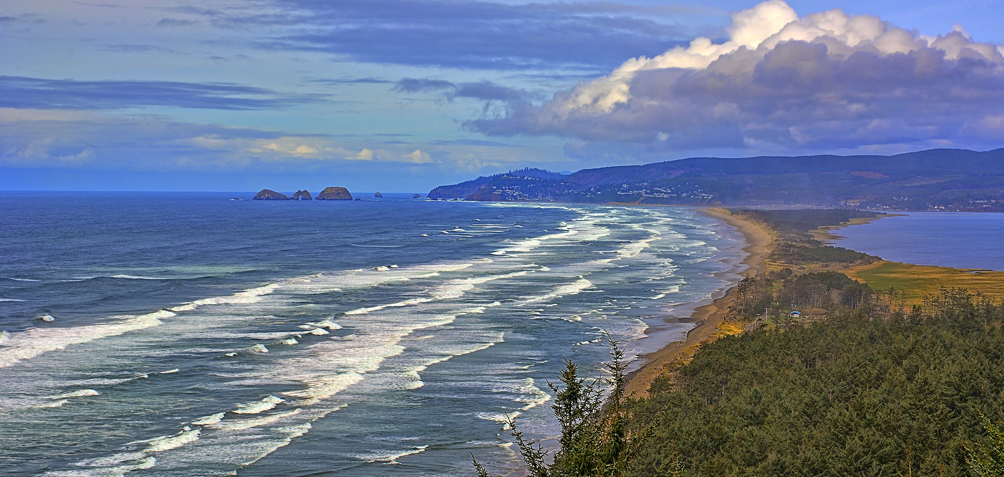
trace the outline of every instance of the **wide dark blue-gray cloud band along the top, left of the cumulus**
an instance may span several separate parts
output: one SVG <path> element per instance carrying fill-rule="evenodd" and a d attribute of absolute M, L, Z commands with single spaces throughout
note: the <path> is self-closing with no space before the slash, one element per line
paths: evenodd
<path fill-rule="evenodd" d="M 260 11 L 189 8 L 185 13 L 228 28 L 286 27 L 290 32 L 262 38 L 258 45 L 355 61 L 594 70 L 680 44 L 693 32 L 666 20 L 667 15 L 694 11 L 613 2 L 275 0 Z"/>

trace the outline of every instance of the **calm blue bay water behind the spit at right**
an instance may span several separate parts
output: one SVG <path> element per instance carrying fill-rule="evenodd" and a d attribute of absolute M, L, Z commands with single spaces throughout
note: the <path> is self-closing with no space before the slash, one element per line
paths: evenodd
<path fill-rule="evenodd" d="M 834 245 L 895 262 L 1004 270 L 1004 214 L 904 212 L 833 231 Z"/>

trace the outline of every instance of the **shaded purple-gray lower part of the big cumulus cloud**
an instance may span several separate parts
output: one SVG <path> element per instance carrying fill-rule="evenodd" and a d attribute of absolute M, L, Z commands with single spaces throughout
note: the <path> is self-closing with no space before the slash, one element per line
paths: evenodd
<path fill-rule="evenodd" d="M 961 44 L 961 36 L 939 41 Z M 740 47 L 704 68 L 638 71 L 625 81 L 626 97 L 609 107 L 582 102 L 584 91 L 602 86 L 596 82 L 559 91 L 542 105 L 514 102 L 503 114 L 467 126 L 494 136 L 571 138 L 571 156 L 993 147 L 1004 141 L 1004 58 L 974 48 L 884 53 L 827 41 Z"/>

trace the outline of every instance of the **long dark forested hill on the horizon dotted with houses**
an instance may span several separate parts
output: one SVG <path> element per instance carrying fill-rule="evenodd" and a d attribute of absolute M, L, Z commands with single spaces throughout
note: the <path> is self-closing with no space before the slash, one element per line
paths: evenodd
<path fill-rule="evenodd" d="M 585 169 L 570 175 L 524 169 L 437 187 L 429 197 L 1004 211 L 1004 149 L 938 149 L 896 156 L 691 158 Z"/>

